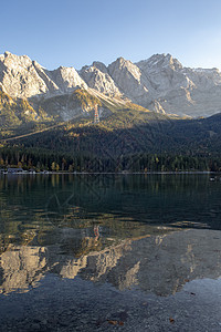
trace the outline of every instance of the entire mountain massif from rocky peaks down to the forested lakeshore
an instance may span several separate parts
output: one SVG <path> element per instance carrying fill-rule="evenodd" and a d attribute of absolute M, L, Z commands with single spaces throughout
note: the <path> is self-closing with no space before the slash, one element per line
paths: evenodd
<path fill-rule="evenodd" d="M 170 54 L 49 71 L 6 52 L 0 163 L 88 172 L 221 170 L 220 105 L 220 72 L 183 68 Z"/>

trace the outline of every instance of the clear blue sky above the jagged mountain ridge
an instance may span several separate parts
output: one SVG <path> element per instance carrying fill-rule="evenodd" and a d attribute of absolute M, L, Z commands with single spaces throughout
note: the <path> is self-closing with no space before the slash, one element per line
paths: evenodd
<path fill-rule="evenodd" d="M 1 1 L 0 53 L 48 69 L 171 53 L 186 66 L 221 69 L 221 0 Z"/>

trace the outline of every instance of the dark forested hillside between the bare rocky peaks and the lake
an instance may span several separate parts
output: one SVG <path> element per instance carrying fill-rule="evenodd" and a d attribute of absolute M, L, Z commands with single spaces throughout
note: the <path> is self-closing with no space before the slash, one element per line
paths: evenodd
<path fill-rule="evenodd" d="M 0 163 L 36 170 L 221 170 L 221 114 L 181 120 L 125 108 L 1 141 Z"/>

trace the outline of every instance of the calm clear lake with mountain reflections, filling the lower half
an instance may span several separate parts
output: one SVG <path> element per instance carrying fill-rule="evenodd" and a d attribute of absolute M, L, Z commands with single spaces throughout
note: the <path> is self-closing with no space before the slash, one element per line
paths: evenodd
<path fill-rule="evenodd" d="M 219 175 L 0 175 L 1 331 L 221 331 Z"/>

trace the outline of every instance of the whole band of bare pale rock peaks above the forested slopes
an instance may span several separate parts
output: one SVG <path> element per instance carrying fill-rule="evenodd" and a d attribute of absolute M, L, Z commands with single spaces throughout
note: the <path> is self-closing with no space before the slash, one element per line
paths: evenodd
<path fill-rule="evenodd" d="M 27 55 L 0 55 L 0 86 L 11 97 L 66 95 L 76 87 L 101 97 L 125 98 L 150 111 L 181 116 L 210 116 L 221 112 L 221 73 L 218 69 L 183 68 L 170 54 L 155 54 L 133 63 L 123 58 L 106 66 L 93 62 L 81 71 L 48 71 Z"/>

